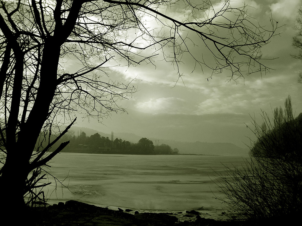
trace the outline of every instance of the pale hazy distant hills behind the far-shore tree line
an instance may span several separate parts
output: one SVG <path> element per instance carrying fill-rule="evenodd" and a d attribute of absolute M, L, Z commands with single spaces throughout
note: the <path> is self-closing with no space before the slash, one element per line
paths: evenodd
<path fill-rule="evenodd" d="M 102 133 L 97 130 L 93 130 L 86 127 L 77 127 L 72 126 L 71 131 L 77 136 L 84 131 L 87 136 L 91 136 L 95 133 L 99 133 L 102 137 L 109 137 L 111 139 L 111 134 Z M 133 133 L 115 133 L 114 139 L 122 139 L 126 141 L 130 141 L 132 143 L 137 143 L 142 137 L 137 136 Z M 148 137 L 147 137 L 148 138 Z M 149 140 L 155 140 L 154 138 L 148 138 Z M 155 142 L 153 141 L 154 145 Z M 159 145 L 162 143 L 168 144 L 172 149 L 178 148 L 180 154 L 199 154 L 199 155 L 245 155 L 249 152 L 249 149 L 241 148 L 236 146 L 233 143 L 207 143 L 207 142 L 182 142 L 175 140 L 163 140 L 159 141 Z"/>

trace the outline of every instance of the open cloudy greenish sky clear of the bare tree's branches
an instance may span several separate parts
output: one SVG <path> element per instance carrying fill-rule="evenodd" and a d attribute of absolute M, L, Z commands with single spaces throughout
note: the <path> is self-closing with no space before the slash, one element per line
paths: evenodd
<path fill-rule="evenodd" d="M 271 114 L 276 106 L 284 106 L 291 96 L 295 115 L 302 112 L 302 84 L 297 83 L 302 62 L 292 55 L 298 49 L 292 46 L 294 24 L 300 0 L 246 1 L 248 14 L 259 24 L 268 26 L 270 15 L 280 27 L 271 41 L 262 48 L 266 65 L 272 70 L 266 74 L 251 74 L 236 81 L 227 82 L 227 73 L 214 74 L 206 68 L 192 72 L 192 60 L 182 58 L 182 80 L 169 62 L 155 58 L 154 64 L 136 67 L 121 66 L 108 69 L 111 79 L 137 88 L 132 97 L 120 102 L 124 113 L 112 113 L 101 122 L 78 117 L 77 126 L 100 132 L 134 133 L 141 137 L 161 140 L 229 142 L 237 146 L 249 145 L 254 139 L 252 119 L 261 124 L 261 111 Z M 243 1 L 232 1 L 234 6 Z M 174 16 L 179 17 L 179 12 Z M 152 23 L 152 21 L 149 21 Z M 154 25 L 155 26 L 155 25 Z M 195 39 L 192 39 L 195 42 Z M 200 42 L 200 41 L 199 41 Z M 196 39 L 196 45 L 202 46 Z M 194 51 L 193 51 L 194 52 Z M 196 56 L 203 53 L 194 52 Z M 203 55 L 204 56 L 204 55 Z M 205 58 L 205 57 L 204 57 Z M 207 58 L 206 58 L 207 59 Z M 213 63 L 213 61 L 209 62 Z M 250 128 L 248 128 L 248 127 Z"/>

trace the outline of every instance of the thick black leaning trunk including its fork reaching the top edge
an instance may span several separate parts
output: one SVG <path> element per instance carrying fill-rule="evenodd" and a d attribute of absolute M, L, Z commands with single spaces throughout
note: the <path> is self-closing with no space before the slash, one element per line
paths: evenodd
<path fill-rule="evenodd" d="M 74 24 L 78 19 L 82 3 L 82 1 L 72 2 L 71 10 L 63 26 L 61 20 L 62 1 L 57 1 L 56 8 L 54 10 L 54 19 L 56 24 L 55 30 L 53 36 L 48 36 L 43 45 L 40 67 L 40 83 L 37 90 L 37 96 L 27 120 L 21 122 L 21 125 L 18 124 L 20 104 L 17 104 L 14 99 L 14 102 L 12 101 L 12 104 L 14 103 L 15 107 L 11 108 L 11 112 L 9 113 L 9 125 L 8 128 L 6 128 L 6 140 L 9 141 L 6 143 L 7 156 L 5 165 L 2 167 L 0 173 L 0 195 L 2 196 L 0 199 L 0 214 L 5 218 L 13 216 L 14 219 L 11 221 L 12 225 L 21 225 L 16 224 L 16 221 L 21 223 L 22 220 L 24 220 L 22 216 L 20 217 L 20 214 L 24 214 L 25 210 L 23 196 L 24 190 L 26 189 L 26 179 L 30 173 L 29 169 L 32 153 L 35 150 L 35 145 L 41 129 L 49 117 L 49 108 L 58 85 L 57 69 L 61 45 L 70 35 Z M 5 31 L 7 32 L 7 36 L 12 36 L 12 32 L 9 30 L 2 17 L 0 17 L 0 23 L 2 23 L 0 24 L 2 25 L 1 29 L 6 29 Z M 21 60 L 22 59 L 18 62 L 21 62 Z M 18 69 L 17 72 L 18 74 L 22 74 L 21 69 Z M 14 87 L 16 84 L 17 83 L 14 82 Z M 17 85 L 18 87 L 21 87 L 22 83 L 18 83 Z M 15 93 L 16 92 L 14 92 L 14 94 Z M 14 96 L 18 96 L 18 98 L 20 98 L 20 95 L 15 94 Z M 17 105 L 18 107 L 16 107 Z M 20 129 L 18 133 L 16 131 L 17 128 Z M 66 146 L 67 143 L 64 145 Z M 41 164 L 44 163 L 42 162 Z"/>

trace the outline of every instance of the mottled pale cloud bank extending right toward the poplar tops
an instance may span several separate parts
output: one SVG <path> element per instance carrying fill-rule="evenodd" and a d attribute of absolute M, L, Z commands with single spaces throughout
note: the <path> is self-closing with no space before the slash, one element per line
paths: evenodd
<path fill-rule="evenodd" d="M 244 84 L 209 82 L 199 88 L 201 98 L 192 114 L 253 114 L 260 110 L 271 112 L 276 106 L 283 106 L 288 95 L 297 96 L 299 85 L 296 75 L 284 73 L 264 77 L 248 77 Z M 242 80 L 243 81 L 243 80 Z M 206 87 L 208 84 L 208 87 Z M 196 92 L 196 90 L 194 91 Z M 294 98 L 296 100 L 296 98 Z M 298 101 L 298 100 L 296 100 Z M 299 107 L 299 106 L 298 106 Z M 299 107 L 300 108 L 300 107 Z"/>

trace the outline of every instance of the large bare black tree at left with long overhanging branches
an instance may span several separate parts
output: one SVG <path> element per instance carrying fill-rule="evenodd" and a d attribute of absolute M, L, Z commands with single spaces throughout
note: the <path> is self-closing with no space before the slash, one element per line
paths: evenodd
<path fill-rule="evenodd" d="M 153 57 L 162 51 L 165 60 L 175 64 L 178 77 L 185 54 L 196 67 L 229 71 L 228 79 L 235 80 L 269 70 L 261 47 L 276 30 L 273 20 L 267 30 L 247 15 L 247 6 L 233 8 L 228 0 L 215 5 L 208 0 L 1 0 L 0 4 L 4 154 L 0 193 L 7 212 L 24 206 L 24 194 L 43 178 L 37 172 L 68 144 L 49 152 L 74 123 L 73 111 L 101 119 L 124 110 L 117 101 L 130 97 L 135 88 L 110 80 L 106 67 L 155 64 Z M 185 9 L 185 17 L 173 17 L 173 8 Z M 158 27 L 148 27 L 145 16 Z M 208 51 L 207 58 L 194 55 L 196 45 Z M 81 69 L 66 71 L 67 60 Z M 71 124 L 51 140 L 62 119 Z M 46 146 L 39 145 L 41 134 L 48 139 Z"/>

